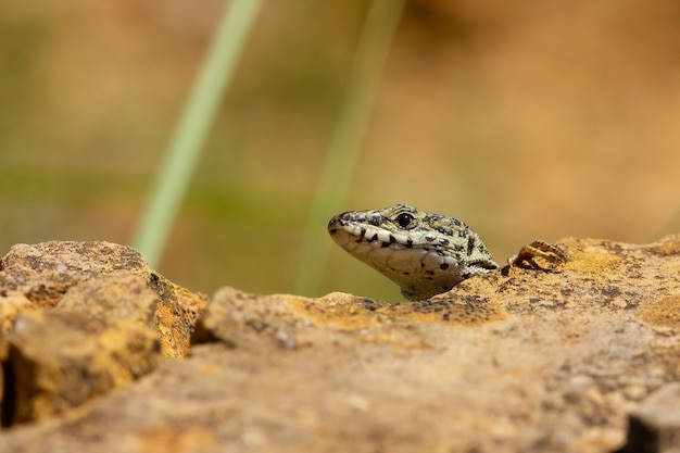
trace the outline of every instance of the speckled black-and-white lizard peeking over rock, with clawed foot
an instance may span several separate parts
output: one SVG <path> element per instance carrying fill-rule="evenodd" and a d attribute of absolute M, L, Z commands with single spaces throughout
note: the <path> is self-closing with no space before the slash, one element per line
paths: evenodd
<path fill-rule="evenodd" d="M 466 278 L 499 267 L 465 223 L 408 204 L 343 212 L 330 219 L 328 232 L 352 256 L 399 285 L 410 301 L 446 292 Z M 536 257 L 554 265 L 567 260 L 559 247 L 537 240 L 511 256 L 503 273 L 525 263 L 540 268 Z"/>

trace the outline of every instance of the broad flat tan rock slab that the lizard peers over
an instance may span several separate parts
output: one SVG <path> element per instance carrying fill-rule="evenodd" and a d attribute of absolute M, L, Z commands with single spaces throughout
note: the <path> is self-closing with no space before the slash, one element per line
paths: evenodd
<path fill-rule="evenodd" d="M 680 380 L 680 236 L 563 246 L 556 272 L 401 305 L 223 288 L 190 356 L 0 451 L 614 452 L 627 414 Z"/>

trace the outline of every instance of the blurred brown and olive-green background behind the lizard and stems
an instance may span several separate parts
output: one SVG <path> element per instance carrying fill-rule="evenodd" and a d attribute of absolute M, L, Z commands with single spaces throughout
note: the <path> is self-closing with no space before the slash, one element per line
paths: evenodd
<path fill-rule="evenodd" d="M 158 269 L 290 292 L 368 2 L 265 2 Z M 0 255 L 130 243 L 225 3 L 0 3 Z M 499 263 L 542 238 L 680 231 L 680 2 L 410 0 L 336 211 L 455 216 Z M 328 217 L 330 217 L 330 214 Z M 320 281 L 399 301 L 314 234 Z"/>

